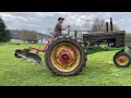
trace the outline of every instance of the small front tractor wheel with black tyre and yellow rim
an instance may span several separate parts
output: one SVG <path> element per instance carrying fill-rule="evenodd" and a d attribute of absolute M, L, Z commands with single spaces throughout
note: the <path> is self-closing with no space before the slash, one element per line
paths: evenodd
<path fill-rule="evenodd" d="M 114 56 L 114 62 L 117 66 L 127 68 L 131 64 L 131 54 L 127 51 L 119 51 Z"/>

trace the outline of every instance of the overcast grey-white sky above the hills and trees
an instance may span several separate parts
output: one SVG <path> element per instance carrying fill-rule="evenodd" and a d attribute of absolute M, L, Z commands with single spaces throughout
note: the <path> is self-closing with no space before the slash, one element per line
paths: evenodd
<path fill-rule="evenodd" d="M 105 21 L 114 20 L 121 30 L 131 32 L 131 12 L 0 12 L 0 16 L 10 29 L 29 29 L 48 34 L 53 28 L 59 16 L 64 17 L 64 25 L 73 29 L 85 29 L 84 20 L 98 17 Z"/>

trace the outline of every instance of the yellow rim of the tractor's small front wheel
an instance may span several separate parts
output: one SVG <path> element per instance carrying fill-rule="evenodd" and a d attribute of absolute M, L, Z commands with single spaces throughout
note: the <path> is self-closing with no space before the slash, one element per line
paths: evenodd
<path fill-rule="evenodd" d="M 129 63 L 129 58 L 126 54 L 121 54 L 117 58 L 117 63 L 119 65 L 126 65 Z"/>

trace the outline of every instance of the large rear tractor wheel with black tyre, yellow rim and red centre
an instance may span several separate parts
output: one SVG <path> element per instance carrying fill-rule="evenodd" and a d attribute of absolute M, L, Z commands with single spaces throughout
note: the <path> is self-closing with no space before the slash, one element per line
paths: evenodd
<path fill-rule="evenodd" d="M 86 64 L 86 49 L 76 38 L 61 36 L 48 46 L 45 59 L 55 75 L 76 75 Z"/>

